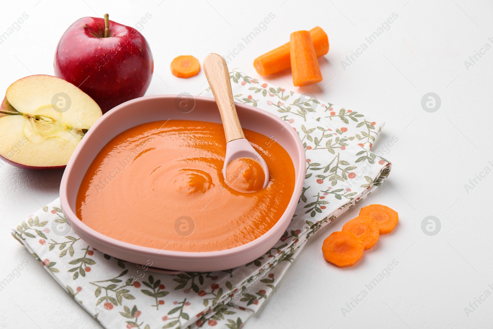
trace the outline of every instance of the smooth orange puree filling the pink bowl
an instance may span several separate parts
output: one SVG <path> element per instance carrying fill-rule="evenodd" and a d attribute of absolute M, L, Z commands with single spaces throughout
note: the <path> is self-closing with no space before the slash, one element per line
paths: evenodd
<path fill-rule="evenodd" d="M 222 124 L 149 122 L 119 134 L 96 156 L 79 188 L 78 218 L 114 239 L 157 249 L 217 251 L 258 238 L 286 209 L 294 167 L 278 143 L 244 132 L 269 168 L 266 188 L 262 167 L 245 158 L 230 163 L 229 179 L 249 192 L 224 182 Z"/>

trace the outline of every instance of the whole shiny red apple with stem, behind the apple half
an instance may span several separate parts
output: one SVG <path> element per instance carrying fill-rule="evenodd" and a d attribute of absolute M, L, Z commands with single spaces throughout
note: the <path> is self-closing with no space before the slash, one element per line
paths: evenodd
<path fill-rule="evenodd" d="M 154 60 L 139 31 L 109 21 L 83 17 L 61 37 L 54 60 L 55 75 L 79 87 L 98 103 L 103 113 L 149 87 Z"/>

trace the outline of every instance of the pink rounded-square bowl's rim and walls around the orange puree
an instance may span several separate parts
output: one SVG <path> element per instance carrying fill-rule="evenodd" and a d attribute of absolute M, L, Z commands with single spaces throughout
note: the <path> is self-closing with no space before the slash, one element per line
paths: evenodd
<path fill-rule="evenodd" d="M 190 110 L 192 109 L 192 110 Z M 301 195 L 306 172 L 305 150 L 298 134 L 274 114 L 236 103 L 242 126 L 273 138 L 291 156 L 295 186 L 287 209 L 264 235 L 245 245 L 214 252 L 179 252 L 142 247 L 119 241 L 90 228 L 76 216 L 75 199 L 87 168 L 113 137 L 146 122 L 168 119 L 221 122 L 215 100 L 189 95 L 155 95 L 123 103 L 101 117 L 75 149 L 60 186 L 60 202 L 74 232 L 92 247 L 137 264 L 179 271 L 216 271 L 237 267 L 265 254 L 286 230 Z M 132 186 L 129 186 L 129 189 Z M 105 220 L 102 218 L 101 220 Z"/>

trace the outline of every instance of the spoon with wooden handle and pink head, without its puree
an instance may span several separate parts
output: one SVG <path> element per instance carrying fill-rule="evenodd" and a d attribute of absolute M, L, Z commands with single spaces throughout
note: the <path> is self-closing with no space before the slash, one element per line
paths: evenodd
<path fill-rule="evenodd" d="M 221 114 L 224 134 L 226 136 L 226 156 L 222 174 L 226 180 L 227 165 L 237 158 L 251 158 L 257 161 L 265 174 L 263 188 L 269 183 L 269 168 L 260 154 L 251 146 L 245 138 L 238 113 L 236 113 L 229 70 L 224 58 L 218 54 L 211 53 L 204 60 L 204 72 L 211 86 L 212 94 Z M 230 185 L 232 188 L 234 186 Z"/>

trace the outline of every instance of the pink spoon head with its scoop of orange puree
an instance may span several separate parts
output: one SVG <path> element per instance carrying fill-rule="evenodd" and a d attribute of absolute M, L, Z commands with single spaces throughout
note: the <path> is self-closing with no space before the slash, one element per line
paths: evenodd
<path fill-rule="evenodd" d="M 229 187 L 243 193 L 258 191 L 269 183 L 267 163 L 245 138 L 226 144 L 222 174 Z"/>

